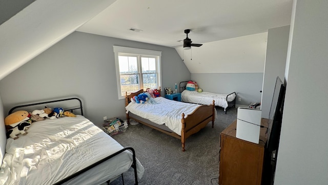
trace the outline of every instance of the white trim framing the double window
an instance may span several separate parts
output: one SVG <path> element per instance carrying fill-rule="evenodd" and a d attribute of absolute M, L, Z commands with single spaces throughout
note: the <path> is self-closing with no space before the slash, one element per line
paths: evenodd
<path fill-rule="evenodd" d="M 117 81 L 117 95 L 118 99 L 125 99 L 125 96 L 121 96 L 121 82 L 120 82 L 120 75 L 119 75 L 119 64 L 118 64 L 118 53 L 125 53 L 125 54 L 141 54 L 141 55 L 151 55 L 151 56 L 158 56 L 158 67 L 159 74 L 161 76 L 161 51 L 153 51 L 147 49 L 138 49 L 138 48 L 129 48 L 129 47 L 121 47 L 121 46 L 113 46 L 114 53 L 115 53 L 115 67 L 116 67 L 116 81 Z M 158 86 L 162 84 L 162 78 L 158 81 Z"/>

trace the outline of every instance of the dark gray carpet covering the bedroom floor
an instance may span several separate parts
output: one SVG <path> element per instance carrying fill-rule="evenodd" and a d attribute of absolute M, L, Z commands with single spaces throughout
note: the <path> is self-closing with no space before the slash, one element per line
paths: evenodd
<path fill-rule="evenodd" d="M 181 141 L 152 128 L 129 125 L 125 133 L 113 136 L 122 146 L 132 146 L 145 168 L 139 184 L 218 184 L 219 136 L 237 119 L 237 109 L 224 114 L 216 108 L 218 119 L 214 128 L 209 123 L 200 132 L 186 140 L 186 152 Z M 134 184 L 133 172 L 124 173 L 125 184 Z M 117 178 L 111 185 L 122 184 Z"/>

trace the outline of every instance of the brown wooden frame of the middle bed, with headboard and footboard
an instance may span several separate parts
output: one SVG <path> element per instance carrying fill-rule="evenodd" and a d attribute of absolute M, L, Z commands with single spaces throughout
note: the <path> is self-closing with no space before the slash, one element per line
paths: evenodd
<path fill-rule="evenodd" d="M 131 102 L 130 99 L 132 97 L 138 96 L 141 93 L 144 93 L 143 89 L 140 89 L 140 90 L 136 91 L 135 93 L 131 93 L 130 95 L 128 95 L 128 93 L 126 93 L 125 105 L 127 106 Z M 182 115 L 181 115 L 181 124 L 182 124 L 181 136 L 179 136 L 178 134 L 176 134 L 174 132 L 168 132 L 168 131 L 162 130 L 161 128 L 158 128 L 154 125 L 148 124 L 137 118 L 133 118 L 132 116 L 129 115 L 129 113 L 127 113 L 126 115 L 127 115 L 128 123 L 130 123 L 130 118 L 132 118 L 135 121 L 142 123 L 144 125 L 147 125 L 151 128 L 154 128 L 157 131 L 160 131 L 162 133 L 165 133 L 165 134 L 168 134 L 170 136 L 180 139 L 181 144 L 182 144 L 182 151 L 185 152 L 186 151 L 185 142 L 189 136 L 200 131 L 201 128 L 205 127 L 210 121 L 212 121 L 212 128 L 214 127 L 214 119 L 215 119 L 215 114 L 214 114 L 215 108 L 214 107 L 215 106 L 214 106 L 214 100 L 213 100 L 213 103 L 211 105 L 201 105 L 198 108 L 196 108 L 192 114 L 187 115 L 187 117 L 185 117 L 185 114 L 182 113 Z"/>

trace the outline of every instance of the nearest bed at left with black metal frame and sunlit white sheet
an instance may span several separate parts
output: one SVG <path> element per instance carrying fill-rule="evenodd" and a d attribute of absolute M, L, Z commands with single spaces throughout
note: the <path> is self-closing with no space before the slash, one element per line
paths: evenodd
<path fill-rule="evenodd" d="M 138 184 L 144 167 L 136 159 L 133 148 L 121 146 L 85 118 L 80 99 L 20 105 L 9 114 L 14 110 L 39 105 L 51 107 L 51 104 L 63 105 L 70 101 L 77 101 L 78 107 L 65 110 L 75 113 L 78 109 L 80 113 L 76 117 L 32 122 L 27 135 L 7 139 L 0 184 L 101 184 L 119 176 L 124 180 L 122 173 L 129 170 L 134 172 L 135 184 Z"/>

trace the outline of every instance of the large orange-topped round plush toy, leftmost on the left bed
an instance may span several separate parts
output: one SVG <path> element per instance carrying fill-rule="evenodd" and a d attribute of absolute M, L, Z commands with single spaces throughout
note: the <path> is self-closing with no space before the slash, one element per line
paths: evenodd
<path fill-rule="evenodd" d="M 8 130 L 7 135 L 17 139 L 18 134 L 27 134 L 27 127 L 31 126 L 31 115 L 26 110 L 18 110 L 5 118 L 5 125 Z"/>

